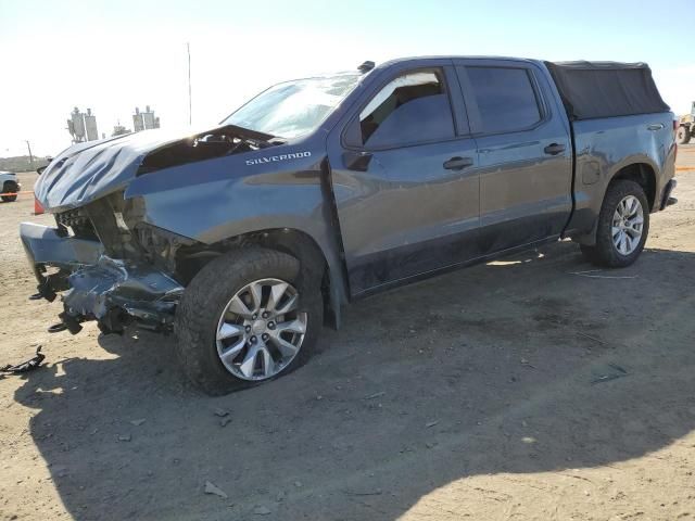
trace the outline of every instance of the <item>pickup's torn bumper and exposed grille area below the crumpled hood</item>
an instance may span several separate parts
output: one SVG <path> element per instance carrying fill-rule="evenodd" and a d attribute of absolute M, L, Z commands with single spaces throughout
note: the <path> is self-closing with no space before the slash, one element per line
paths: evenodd
<path fill-rule="evenodd" d="M 122 332 L 126 323 L 168 332 L 184 287 L 166 269 L 168 254 L 186 239 L 123 217 L 113 194 L 84 207 L 55 214 L 56 227 L 23 223 L 20 236 L 38 280 L 35 298 L 49 302 L 61 293 L 61 322 L 49 331 L 75 334 L 81 322 L 97 320 L 104 332 Z M 132 206 L 132 205 L 130 205 Z M 132 218 L 137 209 L 129 207 Z M 144 247 L 140 241 L 147 241 Z M 157 258 L 154 258 L 157 257 Z"/>

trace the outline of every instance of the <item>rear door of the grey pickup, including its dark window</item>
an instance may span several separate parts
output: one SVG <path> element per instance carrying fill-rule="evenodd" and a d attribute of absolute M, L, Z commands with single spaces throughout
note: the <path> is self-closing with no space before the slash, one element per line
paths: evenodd
<path fill-rule="evenodd" d="M 480 167 L 480 249 L 556 238 L 572 208 L 571 142 L 546 75 L 514 60 L 456 60 Z"/>

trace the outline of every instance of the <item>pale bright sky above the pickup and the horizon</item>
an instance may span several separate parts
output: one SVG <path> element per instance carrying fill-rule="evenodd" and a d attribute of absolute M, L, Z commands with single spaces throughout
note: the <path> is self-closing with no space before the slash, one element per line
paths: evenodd
<path fill-rule="evenodd" d="M 0 156 L 70 145 L 74 106 L 99 134 L 151 105 L 213 126 L 275 82 L 431 54 L 649 63 L 677 114 L 695 101 L 695 0 L 0 0 Z M 681 42 L 681 43 L 679 43 Z"/>

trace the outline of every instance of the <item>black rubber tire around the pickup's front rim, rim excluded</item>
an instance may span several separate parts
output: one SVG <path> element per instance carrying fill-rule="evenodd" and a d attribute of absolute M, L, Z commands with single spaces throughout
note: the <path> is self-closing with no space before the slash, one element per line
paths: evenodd
<path fill-rule="evenodd" d="M 218 320 L 229 300 L 252 281 L 277 278 L 291 283 L 299 293 L 299 313 L 307 314 L 301 348 L 278 374 L 261 382 L 238 378 L 228 371 L 217 354 Z M 227 394 L 287 374 L 306 363 L 316 346 L 324 322 L 320 277 L 307 280 L 300 262 L 291 255 L 245 247 L 212 260 L 186 288 L 176 310 L 174 332 L 186 376 L 210 395 Z"/>

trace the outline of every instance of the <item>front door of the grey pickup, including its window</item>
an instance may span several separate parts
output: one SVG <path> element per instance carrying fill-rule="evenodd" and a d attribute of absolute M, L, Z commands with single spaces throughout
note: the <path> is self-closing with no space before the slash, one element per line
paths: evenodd
<path fill-rule="evenodd" d="M 451 60 L 390 69 L 328 139 L 358 295 L 478 254 L 476 143 Z"/>

